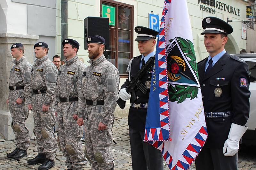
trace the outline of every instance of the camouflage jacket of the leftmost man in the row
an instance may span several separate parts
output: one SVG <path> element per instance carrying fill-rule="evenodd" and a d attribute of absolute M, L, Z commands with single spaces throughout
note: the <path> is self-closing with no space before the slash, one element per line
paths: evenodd
<path fill-rule="evenodd" d="M 17 98 L 24 99 L 27 98 L 29 86 L 30 86 L 30 74 L 32 65 L 23 56 L 20 60 L 13 60 L 14 66 L 11 69 L 11 74 L 9 78 L 9 86 L 24 86 L 23 90 L 19 91 Z"/>

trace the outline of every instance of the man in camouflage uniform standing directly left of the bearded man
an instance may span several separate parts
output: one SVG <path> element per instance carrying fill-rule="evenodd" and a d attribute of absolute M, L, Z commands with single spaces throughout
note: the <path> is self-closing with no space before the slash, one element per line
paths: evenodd
<path fill-rule="evenodd" d="M 83 127 L 76 124 L 78 91 L 80 88 L 80 77 L 85 70 L 85 64 L 78 59 L 76 53 L 79 43 L 73 39 L 64 39 L 64 56 L 66 57 L 59 69 L 56 83 L 54 105 L 55 115 L 58 117 L 59 143 L 63 155 L 66 157 L 68 169 L 80 170 L 87 163 L 82 151 Z"/>

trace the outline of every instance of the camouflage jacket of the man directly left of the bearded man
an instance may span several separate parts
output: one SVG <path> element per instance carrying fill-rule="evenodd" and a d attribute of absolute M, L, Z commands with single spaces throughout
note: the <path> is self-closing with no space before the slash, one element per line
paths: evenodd
<path fill-rule="evenodd" d="M 59 97 L 78 97 L 80 88 L 80 77 L 82 76 L 86 65 L 78 59 L 77 56 L 70 60 L 64 60 L 59 69 L 59 74 L 56 82 L 54 93 L 55 110 L 60 102 Z"/>

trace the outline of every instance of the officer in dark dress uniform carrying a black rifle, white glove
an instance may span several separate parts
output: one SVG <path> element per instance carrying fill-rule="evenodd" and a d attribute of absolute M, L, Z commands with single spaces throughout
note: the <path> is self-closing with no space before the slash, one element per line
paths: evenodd
<path fill-rule="evenodd" d="M 138 41 L 138 48 L 141 55 L 133 57 L 127 68 L 129 76 L 122 85 L 119 91 L 119 97 L 126 101 L 129 100 L 130 94 L 127 93 L 126 87 L 129 81 L 139 72 L 140 68 L 154 56 L 156 45 L 157 31 L 151 30 L 143 26 L 135 27 L 135 32 L 138 33 L 138 37 L 135 41 Z M 129 109 L 128 124 L 129 124 L 129 135 L 132 152 L 132 169 L 133 170 L 162 170 L 163 169 L 163 157 L 161 152 L 143 142 L 145 123 L 148 108 L 148 97 L 151 83 L 152 68 L 142 76 L 140 81 L 148 89 L 147 93 L 144 94 L 140 90 L 135 92 L 136 100 L 131 98 L 131 107 Z"/>

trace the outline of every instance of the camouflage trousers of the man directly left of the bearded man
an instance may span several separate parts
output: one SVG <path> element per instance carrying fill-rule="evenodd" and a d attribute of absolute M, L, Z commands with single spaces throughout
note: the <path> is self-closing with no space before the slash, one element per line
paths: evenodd
<path fill-rule="evenodd" d="M 66 157 L 68 169 L 82 170 L 87 164 L 84 159 L 81 137 L 83 127 L 79 127 L 73 115 L 78 102 L 60 102 L 58 105 L 57 117 L 59 126 L 59 143 L 63 155 Z"/>

